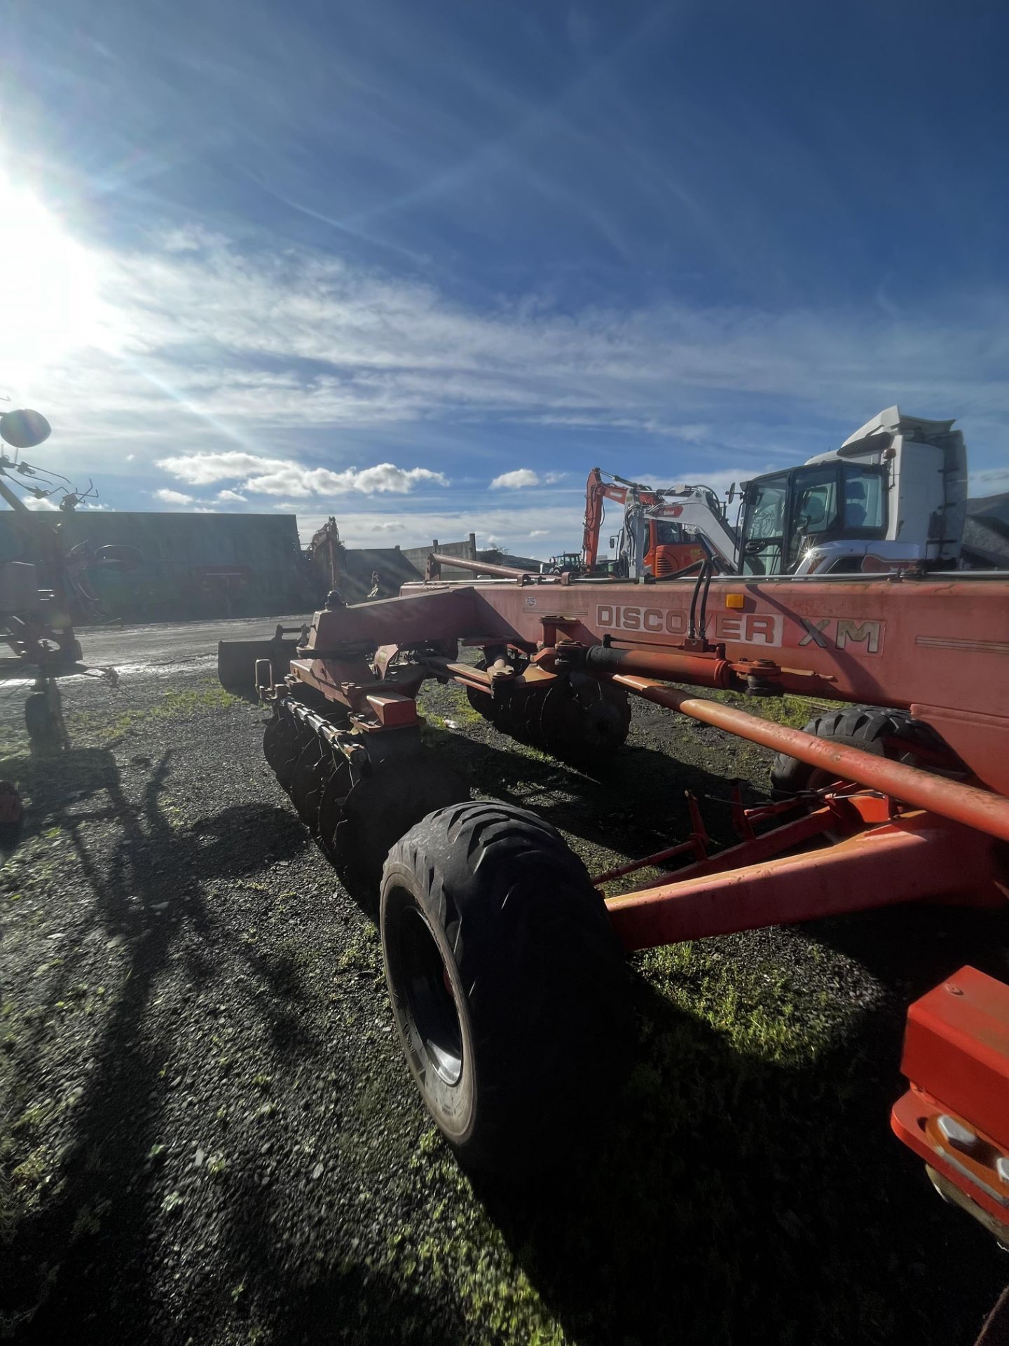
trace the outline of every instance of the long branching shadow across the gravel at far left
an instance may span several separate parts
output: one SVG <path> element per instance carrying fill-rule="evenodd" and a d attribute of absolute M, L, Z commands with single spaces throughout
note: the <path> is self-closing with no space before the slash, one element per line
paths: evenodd
<path fill-rule="evenodd" d="M 203 882 L 252 874 L 303 845 L 297 820 L 261 804 L 223 809 L 191 828 L 176 825 L 161 808 L 170 762 L 168 752 L 144 760 L 149 773 L 136 804 L 124 793 L 106 750 L 70 750 L 16 763 L 31 794 L 26 841 L 59 829 L 70 839 L 90 887 L 87 914 L 73 930 L 69 956 L 47 987 L 48 1004 L 17 1043 L 16 1065 L 28 1092 L 46 1089 L 44 1079 L 32 1079 L 35 1051 L 48 1014 L 75 981 L 89 938 L 121 944 L 129 964 L 100 1042 L 89 1047 L 87 1082 L 74 1106 L 73 1141 L 59 1158 L 55 1191 L 38 1213 L 17 1219 L 15 1210 L 0 1225 L 0 1339 L 65 1341 L 73 1324 L 75 1341 L 126 1341 L 126 1324 L 152 1318 L 143 1249 L 153 1238 L 149 1154 L 168 1082 L 161 1069 L 165 1043 L 149 1039 L 145 1014 L 175 956 L 183 922 L 206 948 L 206 956 L 190 952 L 186 960 L 194 987 L 207 976 L 209 960 L 219 956 L 222 941 L 262 972 L 254 954 L 210 915 Z M 120 829 L 112 855 L 101 863 L 89 836 L 98 821 L 114 821 Z M 281 969 L 272 993 L 258 999 L 258 1014 L 284 1050 L 315 1050 L 292 1015 L 291 992 Z M 93 1215 L 96 1207 L 104 1217 L 98 1249 L 82 1237 L 87 1232 L 82 1214 Z"/>

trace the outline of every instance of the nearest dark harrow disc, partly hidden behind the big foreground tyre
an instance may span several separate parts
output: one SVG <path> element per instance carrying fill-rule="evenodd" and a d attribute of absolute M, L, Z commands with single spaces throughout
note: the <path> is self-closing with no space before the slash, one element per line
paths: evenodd
<path fill-rule="evenodd" d="M 409 763 L 378 763 L 343 805 L 336 825 L 336 863 L 374 894 L 385 859 L 400 837 L 428 813 L 468 798 L 461 778 L 426 755 Z"/>

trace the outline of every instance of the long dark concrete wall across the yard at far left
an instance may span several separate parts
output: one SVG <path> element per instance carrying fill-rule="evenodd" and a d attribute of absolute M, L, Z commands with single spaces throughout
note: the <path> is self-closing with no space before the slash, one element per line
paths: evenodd
<path fill-rule="evenodd" d="M 32 560 L 35 537 L 58 526 L 66 553 L 78 542 L 136 546 L 125 573 L 91 568 L 91 587 L 113 616 L 130 622 L 268 616 L 305 610 L 307 581 L 293 514 L 145 514 L 0 511 L 0 560 Z M 43 576 L 46 583 L 50 583 Z M 82 614 L 77 614 L 81 621 Z"/>

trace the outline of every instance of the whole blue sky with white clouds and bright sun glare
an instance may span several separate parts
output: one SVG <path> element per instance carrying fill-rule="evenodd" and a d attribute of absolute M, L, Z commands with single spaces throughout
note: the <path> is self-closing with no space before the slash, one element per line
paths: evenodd
<path fill-rule="evenodd" d="M 7 16 L 0 382 L 112 507 L 549 555 L 595 464 L 726 486 L 893 402 L 1009 489 L 1001 5 Z"/>

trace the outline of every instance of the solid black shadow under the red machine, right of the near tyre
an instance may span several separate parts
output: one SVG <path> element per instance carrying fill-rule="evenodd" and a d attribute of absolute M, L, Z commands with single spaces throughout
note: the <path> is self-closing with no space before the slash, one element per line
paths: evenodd
<path fill-rule="evenodd" d="M 940 960 L 908 937 L 934 923 L 903 915 L 891 970 L 918 993 Z M 993 931 L 954 917 L 946 933 L 955 964 Z M 803 1069 L 735 1051 L 643 980 L 636 1001 L 640 1055 L 592 1162 L 521 1198 L 478 1186 L 568 1338 L 973 1342 L 1009 1263 L 889 1132 L 903 1001 Z"/>

